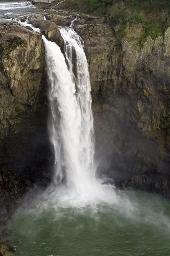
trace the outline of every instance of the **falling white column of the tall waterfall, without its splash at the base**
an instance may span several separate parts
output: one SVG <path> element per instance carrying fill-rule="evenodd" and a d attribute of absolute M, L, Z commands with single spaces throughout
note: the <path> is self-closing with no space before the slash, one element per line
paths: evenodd
<path fill-rule="evenodd" d="M 93 116 L 88 64 L 80 37 L 61 28 L 65 55 L 43 37 L 49 79 L 51 117 L 49 134 L 54 145 L 55 181 L 66 176 L 68 187 L 85 193 L 94 180 Z"/>

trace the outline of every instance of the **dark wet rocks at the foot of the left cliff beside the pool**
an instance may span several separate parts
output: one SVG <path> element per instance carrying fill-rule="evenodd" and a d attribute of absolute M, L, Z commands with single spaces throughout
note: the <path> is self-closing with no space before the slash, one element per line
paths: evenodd
<path fill-rule="evenodd" d="M 24 169 L 22 172 L 21 170 L 12 172 L 11 169 L 9 171 L 9 169 L 3 168 L 2 173 L 8 175 L 8 183 L 0 186 L 0 225 L 8 224 L 13 212 L 20 206 L 23 194 L 29 194 L 29 191 L 33 194 L 37 193 L 39 189 L 44 189 L 51 183 L 47 172 L 48 169 L 36 166 Z M 10 234 L 11 231 L 8 228 L 3 231 L 3 239 L 6 239 L 6 243 L 4 244 L 3 241 L 1 244 L 10 244 L 10 241 L 7 241 Z"/>

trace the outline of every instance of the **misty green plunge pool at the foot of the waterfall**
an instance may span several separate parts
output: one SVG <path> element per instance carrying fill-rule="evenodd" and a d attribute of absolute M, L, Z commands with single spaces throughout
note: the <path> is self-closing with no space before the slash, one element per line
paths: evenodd
<path fill-rule="evenodd" d="M 10 224 L 17 256 L 170 256 L 170 201 L 116 193 L 111 204 L 47 200 L 20 209 Z"/>

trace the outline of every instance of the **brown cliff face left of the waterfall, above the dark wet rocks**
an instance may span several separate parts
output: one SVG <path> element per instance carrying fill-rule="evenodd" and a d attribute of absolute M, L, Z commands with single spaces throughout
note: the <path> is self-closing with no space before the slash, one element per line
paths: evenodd
<path fill-rule="evenodd" d="M 1 23 L 0 48 L 0 164 L 34 164 L 48 140 L 42 36 Z"/>

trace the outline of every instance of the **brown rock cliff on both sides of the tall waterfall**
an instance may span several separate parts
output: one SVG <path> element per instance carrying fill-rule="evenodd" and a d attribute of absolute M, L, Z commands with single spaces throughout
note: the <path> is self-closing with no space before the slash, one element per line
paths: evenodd
<path fill-rule="evenodd" d="M 56 24 L 72 17 L 34 15 L 29 22 L 62 48 Z M 81 16 L 75 25 L 89 63 L 99 175 L 170 197 L 170 29 L 141 44 L 140 24 L 124 36 L 105 19 Z M 0 47 L 0 165 L 44 166 L 51 151 L 42 37 L 2 23 Z"/>

